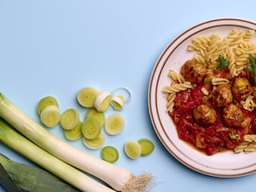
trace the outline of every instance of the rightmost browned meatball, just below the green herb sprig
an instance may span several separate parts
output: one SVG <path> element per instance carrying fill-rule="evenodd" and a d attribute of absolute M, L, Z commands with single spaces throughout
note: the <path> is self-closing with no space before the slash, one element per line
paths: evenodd
<path fill-rule="evenodd" d="M 235 78 L 232 86 L 232 93 L 237 102 L 246 100 L 252 94 L 253 87 L 247 78 Z"/>

